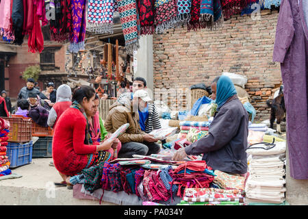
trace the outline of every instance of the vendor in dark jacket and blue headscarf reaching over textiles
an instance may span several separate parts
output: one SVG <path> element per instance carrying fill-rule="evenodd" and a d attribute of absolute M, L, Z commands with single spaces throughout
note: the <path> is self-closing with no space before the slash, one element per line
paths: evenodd
<path fill-rule="evenodd" d="M 248 113 L 229 77 L 216 77 L 211 89 L 212 99 L 216 99 L 218 107 L 209 134 L 185 149 L 179 149 L 172 159 L 182 160 L 187 155 L 203 153 L 203 160 L 214 170 L 244 174 L 247 172 Z"/>

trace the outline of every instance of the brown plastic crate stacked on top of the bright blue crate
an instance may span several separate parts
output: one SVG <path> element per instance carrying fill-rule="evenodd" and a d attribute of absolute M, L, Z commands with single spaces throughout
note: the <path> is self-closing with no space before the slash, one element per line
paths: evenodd
<path fill-rule="evenodd" d="M 8 142 L 29 142 L 32 138 L 32 120 L 23 116 L 3 117 L 10 122 Z"/>

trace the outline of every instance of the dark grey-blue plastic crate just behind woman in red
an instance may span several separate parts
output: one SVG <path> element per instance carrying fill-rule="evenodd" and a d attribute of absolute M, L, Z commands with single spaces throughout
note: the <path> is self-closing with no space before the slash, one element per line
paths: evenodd
<path fill-rule="evenodd" d="M 39 138 L 33 144 L 32 158 L 52 157 L 53 137 Z"/>

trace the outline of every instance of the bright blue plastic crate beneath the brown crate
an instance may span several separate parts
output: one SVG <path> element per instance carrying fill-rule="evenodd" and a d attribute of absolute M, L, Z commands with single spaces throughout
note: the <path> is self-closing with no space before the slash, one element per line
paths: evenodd
<path fill-rule="evenodd" d="M 32 160 L 32 141 L 27 143 L 8 142 L 6 155 L 10 159 L 10 168 L 30 164 Z"/>

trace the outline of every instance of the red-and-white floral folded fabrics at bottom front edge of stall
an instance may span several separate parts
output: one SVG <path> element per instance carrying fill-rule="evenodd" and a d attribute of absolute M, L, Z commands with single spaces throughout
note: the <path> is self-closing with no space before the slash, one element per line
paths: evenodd
<path fill-rule="evenodd" d="M 177 205 L 244 205 L 242 190 L 217 188 L 186 188 Z"/>

